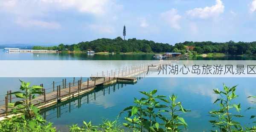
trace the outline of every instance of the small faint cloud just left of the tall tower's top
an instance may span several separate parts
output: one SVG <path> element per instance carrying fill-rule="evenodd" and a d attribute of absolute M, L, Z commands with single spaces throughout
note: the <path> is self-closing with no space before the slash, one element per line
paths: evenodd
<path fill-rule="evenodd" d="M 98 32 L 101 34 L 113 34 L 115 32 L 115 29 L 110 25 L 96 25 L 92 24 L 89 25 L 89 28 L 93 30 L 94 32 Z"/>

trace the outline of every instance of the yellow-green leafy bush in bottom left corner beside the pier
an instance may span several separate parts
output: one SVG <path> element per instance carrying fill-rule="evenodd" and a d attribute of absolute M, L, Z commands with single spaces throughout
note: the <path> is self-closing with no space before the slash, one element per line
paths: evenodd
<path fill-rule="evenodd" d="M 8 106 L 12 108 L 12 116 L 0 122 L 0 132 L 55 132 L 52 123 L 47 123 L 41 115 L 39 110 L 30 103 L 29 98 L 35 98 L 36 94 L 41 94 L 42 87 L 29 87 L 29 82 L 20 81 L 20 91 L 10 93 L 20 98 L 14 104 L 10 103 Z"/>

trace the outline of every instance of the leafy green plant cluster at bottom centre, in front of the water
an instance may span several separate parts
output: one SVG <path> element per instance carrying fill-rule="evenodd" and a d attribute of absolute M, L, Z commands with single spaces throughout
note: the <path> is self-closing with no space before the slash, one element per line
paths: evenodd
<path fill-rule="evenodd" d="M 177 132 L 179 126 L 187 126 L 185 120 L 175 113 L 187 112 L 183 109 L 181 102 L 176 103 L 177 96 L 172 95 L 169 97 L 170 101 L 166 99 L 166 96 L 155 95 L 157 90 L 150 92 L 140 92 L 146 96 L 146 98 L 134 98 L 134 106 L 125 108 L 122 112 L 128 112 L 128 117 L 125 117 L 126 123 L 123 123 L 125 127 L 132 129 L 133 131 L 143 132 Z M 170 103 L 170 106 L 166 106 Z M 162 104 L 161 104 L 162 103 Z M 180 109 L 176 109 L 179 106 Z M 122 114 L 122 112 L 120 114 Z M 168 112 L 171 118 L 165 117 L 163 112 Z M 162 121 L 162 122 L 158 122 Z"/>

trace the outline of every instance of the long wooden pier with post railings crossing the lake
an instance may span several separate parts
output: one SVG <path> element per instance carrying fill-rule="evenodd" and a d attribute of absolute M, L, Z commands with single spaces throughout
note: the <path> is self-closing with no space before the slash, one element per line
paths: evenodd
<path fill-rule="evenodd" d="M 179 56 L 174 60 L 179 60 L 181 57 Z M 122 67 L 118 70 L 110 70 L 107 72 L 102 71 L 102 75 L 99 76 L 98 73 L 96 75 L 92 75 L 90 79 L 82 80 L 79 78 L 78 80 L 71 80 L 67 83 L 66 79 L 63 79 L 60 82 L 52 82 L 50 87 L 44 87 L 44 84 L 40 84 L 43 87 L 43 94 L 37 95 L 36 98 L 32 99 L 30 102 L 37 106 L 38 108 L 47 108 L 52 105 L 57 104 L 59 101 L 66 101 L 68 99 L 74 98 L 76 96 L 82 95 L 84 93 L 88 93 L 94 90 L 99 85 L 110 85 L 117 82 L 120 83 L 136 83 L 137 78 L 134 76 L 140 75 L 148 71 L 149 65 L 163 65 L 167 64 L 168 60 L 156 61 L 154 64 L 142 64 L 135 65 L 132 67 Z M 49 86 L 49 85 L 48 85 Z M 18 101 L 16 97 L 12 97 L 13 95 L 8 95 L 8 93 L 12 93 L 12 91 L 8 91 L 5 98 L 0 101 L 5 101 L 4 105 L 0 106 L 0 121 L 4 119 L 5 116 L 8 116 L 11 113 L 11 109 L 8 107 L 8 103 L 12 103 Z"/>

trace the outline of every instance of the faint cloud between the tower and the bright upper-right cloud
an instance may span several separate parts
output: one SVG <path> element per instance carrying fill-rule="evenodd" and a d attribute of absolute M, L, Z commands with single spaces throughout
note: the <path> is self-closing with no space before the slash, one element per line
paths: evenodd
<path fill-rule="evenodd" d="M 172 28 L 180 29 L 179 21 L 181 16 L 177 14 L 177 10 L 172 8 L 169 11 L 160 14 L 161 18 L 165 20 Z"/>

